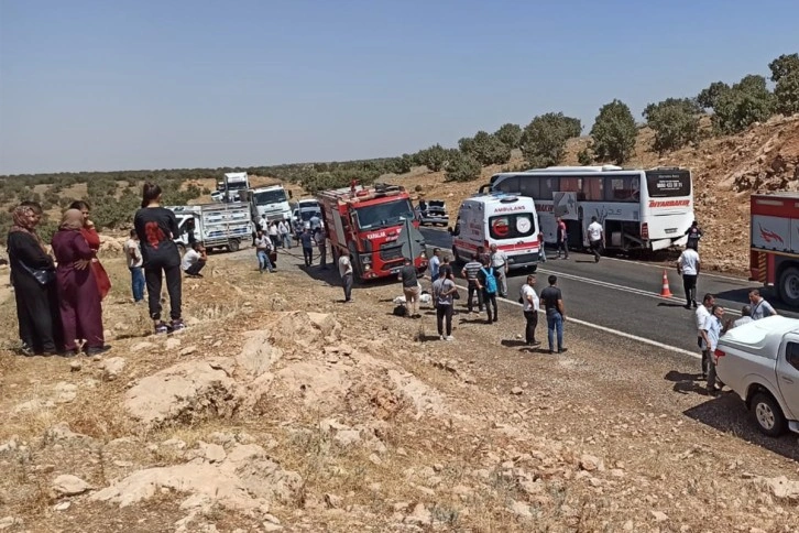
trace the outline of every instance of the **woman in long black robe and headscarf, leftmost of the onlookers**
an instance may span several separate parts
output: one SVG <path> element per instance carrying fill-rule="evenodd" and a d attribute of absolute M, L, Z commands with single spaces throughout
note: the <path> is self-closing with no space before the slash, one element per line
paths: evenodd
<path fill-rule="evenodd" d="M 7 242 L 25 356 L 52 356 L 62 349 L 55 266 L 35 229 L 41 218 L 37 205 L 19 206 Z"/>

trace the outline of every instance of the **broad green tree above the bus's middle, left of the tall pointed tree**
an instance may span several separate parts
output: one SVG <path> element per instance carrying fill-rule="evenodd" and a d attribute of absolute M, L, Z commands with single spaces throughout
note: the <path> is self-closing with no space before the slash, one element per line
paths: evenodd
<path fill-rule="evenodd" d="M 535 117 L 522 134 L 522 154 L 532 166 L 557 165 L 566 154 L 566 141 L 579 137 L 580 120 L 562 112 Z"/>

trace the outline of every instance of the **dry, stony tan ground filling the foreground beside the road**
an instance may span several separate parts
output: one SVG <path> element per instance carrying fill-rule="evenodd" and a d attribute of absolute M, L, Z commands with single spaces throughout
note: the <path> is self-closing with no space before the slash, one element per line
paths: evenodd
<path fill-rule="evenodd" d="M 528 351 L 511 303 L 439 341 L 395 283 L 343 304 L 298 262 L 211 255 L 190 327 L 154 337 L 109 255 L 96 358 L 13 355 L 7 300 L 0 530 L 797 531 L 796 436 L 699 393 L 697 361 L 577 325 Z"/>

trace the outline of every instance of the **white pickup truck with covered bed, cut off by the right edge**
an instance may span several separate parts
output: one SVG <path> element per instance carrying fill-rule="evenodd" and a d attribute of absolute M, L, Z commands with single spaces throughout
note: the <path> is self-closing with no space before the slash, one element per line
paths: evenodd
<path fill-rule="evenodd" d="M 799 433 L 799 319 L 769 316 L 719 339 L 719 379 L 752 411 L 760 432 Z"/>

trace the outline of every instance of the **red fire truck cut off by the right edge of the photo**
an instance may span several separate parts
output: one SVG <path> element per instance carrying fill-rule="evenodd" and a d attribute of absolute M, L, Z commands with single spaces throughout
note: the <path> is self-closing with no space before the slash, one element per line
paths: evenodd
<path fill-rule="evenodd" d="M 753 194 L 749 202 L 749 280 L 799 307 L 799 193 Z"/>

